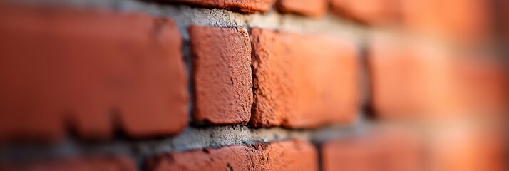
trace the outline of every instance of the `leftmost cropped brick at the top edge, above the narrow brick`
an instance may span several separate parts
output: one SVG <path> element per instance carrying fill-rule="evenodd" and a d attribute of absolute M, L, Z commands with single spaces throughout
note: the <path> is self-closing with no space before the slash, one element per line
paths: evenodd
<path fill-rule="evenodd" d="M 205 8 L 226 9 L 242 13 L 265 12 L 270 9 L 275 0 L 158 0 L 175 3 L 185 3 Z"/>

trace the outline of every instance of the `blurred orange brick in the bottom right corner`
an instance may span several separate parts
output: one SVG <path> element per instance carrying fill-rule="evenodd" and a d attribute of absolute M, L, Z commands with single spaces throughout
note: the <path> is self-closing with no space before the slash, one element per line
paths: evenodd
<path fill-rule="evenodd" d="M 430 170 L 508 170 L 505 127 L 453 125 L 431 134 Z M 497 124 L 494 124 L 497 125 Z"/>

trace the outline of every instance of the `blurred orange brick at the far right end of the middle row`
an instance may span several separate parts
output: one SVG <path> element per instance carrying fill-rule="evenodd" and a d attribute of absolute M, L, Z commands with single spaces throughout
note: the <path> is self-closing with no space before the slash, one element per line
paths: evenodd
<path fill-rule="evenodd" d="M 490 53 L 462 53 L 454 66 L 454 90 L 461 108 L 472 115 L 506 114 L 509 80 L 505 63 Z"/>

